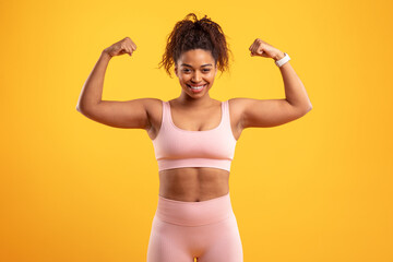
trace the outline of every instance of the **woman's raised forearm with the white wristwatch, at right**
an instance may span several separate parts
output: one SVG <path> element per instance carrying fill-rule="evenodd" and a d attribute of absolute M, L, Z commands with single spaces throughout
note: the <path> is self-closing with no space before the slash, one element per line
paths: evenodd
<path fill-rule="evenodd" d="M 283 57 L 284 52 L 279 52 L 274 57 L 274 60 L 279 60 Z M 290 61 L 284 63 L 279 68 L 284 81 L 286 100 L 294 107 L 308 111 L 312 108 L 311 102 L 307 95 L 305 85 L 289 62 Z"/>

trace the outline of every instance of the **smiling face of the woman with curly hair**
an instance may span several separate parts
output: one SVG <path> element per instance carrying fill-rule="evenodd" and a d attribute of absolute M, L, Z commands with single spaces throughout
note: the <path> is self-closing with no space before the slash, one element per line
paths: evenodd
<path fill-rule="evenodd" d="M 196 97 L 203 96 L 212 87 L 217 69 L 211 51 L 193 49 L 180 56 L 175 66 L 175 73 L 182 92 Z"/>

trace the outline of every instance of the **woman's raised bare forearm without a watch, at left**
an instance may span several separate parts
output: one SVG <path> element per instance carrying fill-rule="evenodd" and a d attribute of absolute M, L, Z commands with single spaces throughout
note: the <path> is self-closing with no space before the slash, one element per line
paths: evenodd
<path fill-rule="evenodd" d="M 97 105 L 103 97 L 104 78 L 110 56 L 103 51 L 93 71 L 82 87 L 76 109 L 83 110 L 90 106 Z"/>

